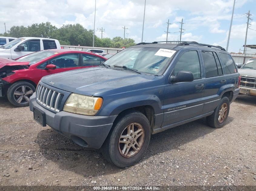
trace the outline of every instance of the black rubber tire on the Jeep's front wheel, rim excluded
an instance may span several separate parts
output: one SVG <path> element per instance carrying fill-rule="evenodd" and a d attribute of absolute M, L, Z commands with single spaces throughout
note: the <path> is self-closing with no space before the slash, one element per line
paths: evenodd
<path fill-rule="evenodd" d="M 123 135 L 124 130 L 130 125 L 135 123 L 136 125 L 141 125 L 140 127 L 144 130 L 144 141 L 141 144 L 141 147 L 138 147 L 138 151 L 135 151 L 135 155 L 132 155 L 130 157 L 125 157 L 121 154 L 120 145 L 120 136 Z M 136 129 L 136 127 L 134 128 Z M 125 132 L 126 133 L 126 132 Z M 127 129 L 127 135 L 128 135 L 128 129 Z M 134 132 L 135 135 L 135 132 Z M 113 127 L 111 129 L 111 132 L 109 133 L 107 139 L 105 140 L 104 144 L 101 147 L 101 153 L 104 156 L 105 160 L 108 162 L 115 164 L 118 167 L 124 168 L 131 166 L 138 162 L 141 157 L 145 154 L 149 141 L 150 141 L 150 124 L 145 115 L 143 115 L 141 112 L 138 111 L 131 111 L 129 113 L 121 114 L 119 116 L 119 119 L 115 121 L 113 124 Z M 126 136 L 126 135 L 124 135 Z M 141 136 L 141 135 L 138 135 Z M 134 138 L 135 139 L 135 138 Z M 137 137 L 137 140 L 139 137 Z M 124 139 L 122 139 L 124 140 Z M 130 141 L 133 140 L 130 137 Z M 136 141 L 137 141 L 136 140 Z M 132 144 L 131 142 L 130 144 Z M 127 144 L 128 145 L 128 144 Z M 135 144 L 136 145 L 136 144 Z M 131 148 L 133 150 L 133 148 Z M 128 149 L 128 151 L 130 151 Z M 129 152 L 130 153 L 130 152 Z M 132 153 L 132 152 L 131 152 Z"/>

